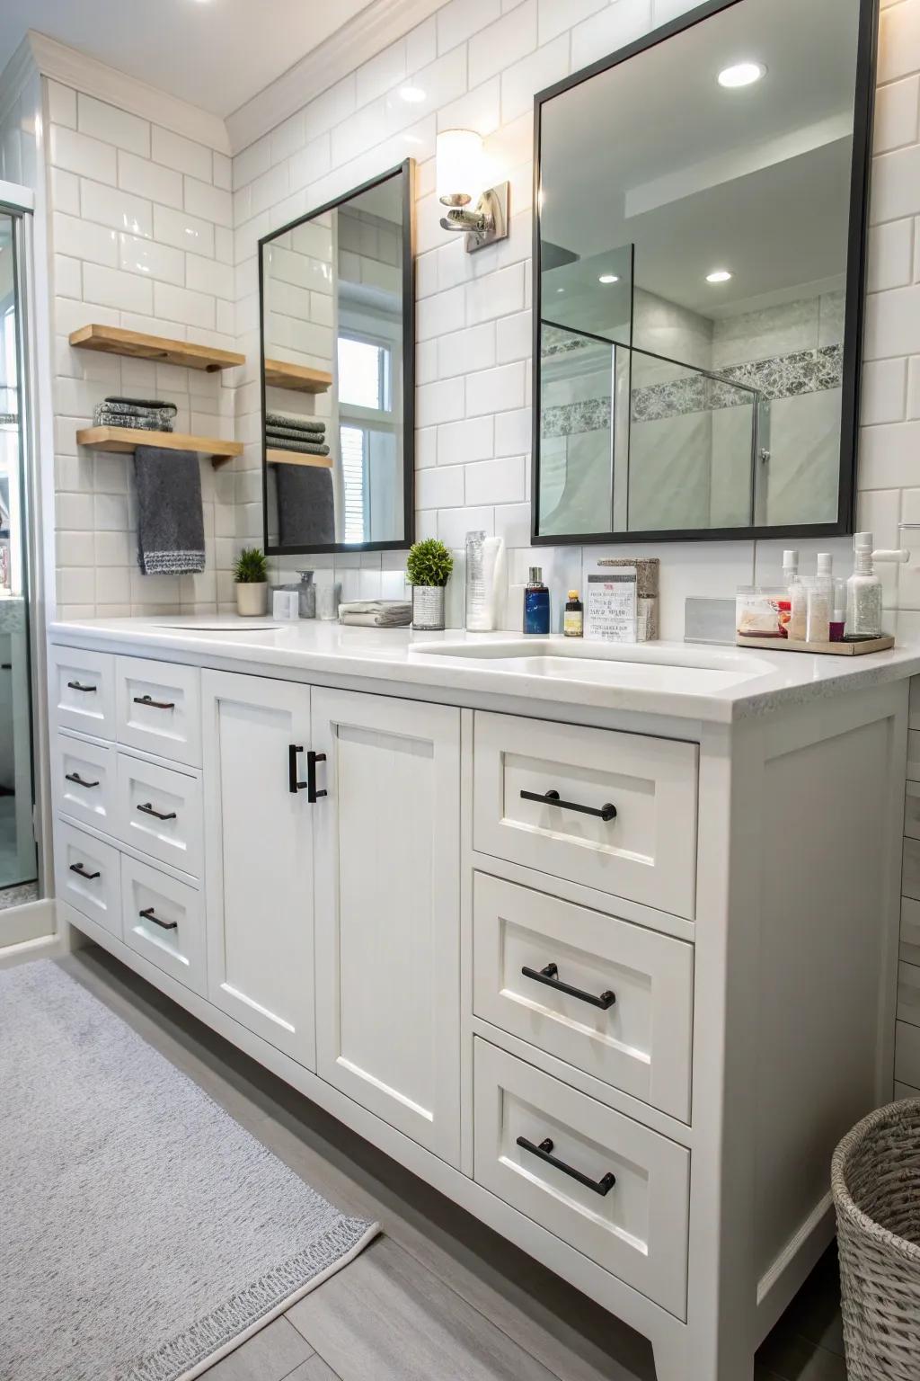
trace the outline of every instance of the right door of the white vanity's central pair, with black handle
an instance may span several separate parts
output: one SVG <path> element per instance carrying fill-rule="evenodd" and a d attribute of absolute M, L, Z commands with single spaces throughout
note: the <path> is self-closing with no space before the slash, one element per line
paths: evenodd
<path fill-rule="evenodd" d="M 459 710 L 313 688 L 317 1073 L 459 1159 Z"/>

